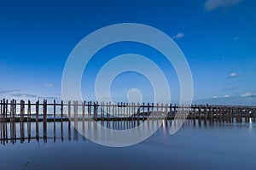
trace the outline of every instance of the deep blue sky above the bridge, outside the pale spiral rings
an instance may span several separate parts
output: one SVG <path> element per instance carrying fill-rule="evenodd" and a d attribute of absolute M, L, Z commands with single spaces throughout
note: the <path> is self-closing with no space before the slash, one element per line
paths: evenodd
<path fill-rule="evenodd" d="M 194 80 L 194 103 L 256 104 L 253 0 L 0 3 L 0 98 L 61 99 L 62 71 L 75 45 L 92 31 L 130 22 L 164 31 L 181 48 Z M 131 52 L 160 65 L 170 83 L 172 102 L 177 102 L 179 87 L 172 65 L 154 49 L 128 42 L 104 48 L 90 61 L 82 81 L 84 99 L 94 99 L 93 83 L 102 56 L 108 61 Z M 146 102 L 153 95 L 148 81 L 131 72 L 113 81 L 113 98 L 124 99 L 129 88 L 142 88 Z"/>

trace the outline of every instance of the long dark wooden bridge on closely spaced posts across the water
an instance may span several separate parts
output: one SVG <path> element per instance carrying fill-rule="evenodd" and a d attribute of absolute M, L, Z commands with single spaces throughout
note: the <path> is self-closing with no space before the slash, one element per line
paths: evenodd
<path fill-rule="evenodd" d="M 122 121 L 122 120 L 145 120 L 152 118 L 174 119 L 178 111 L 188 111 L 187 119 L 198 119 L 199 121 L 218 122 L 255 122 L 256 106 L 239 105 L 173 105 L 154 103 L 117 103 L 110 102 L 78 102 L 61 101 L 59 104 L 47 103 L 44 99 L 31 103 L 15 99 L 1 100 L 0 120 L 1 122 L 65 122 L 70 120 L 86 121 Z"/>

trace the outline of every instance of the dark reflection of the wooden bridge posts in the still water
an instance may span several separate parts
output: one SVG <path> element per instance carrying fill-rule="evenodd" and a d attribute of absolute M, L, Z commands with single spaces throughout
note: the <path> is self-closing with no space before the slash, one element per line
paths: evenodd
<path fill-rule="evenodd" d="M 139 126 L 142 120 L 133 121 L 67 121 L 67 122 L 0 122 L 0 143 L 15 144 L 20 142 L 47 143 L 48 140 L 56 141 L 86 141 L 85 132 L 94 135 L 95 123 L 97 126 L 113 130 L 125 130 Z M 144 129 L 159 127 L 161 120 L 151 120 L 143 123 Z M 171 121 L 170 122 L 171 125 Z M 167 121 L 163 124 L 166 128 Z M 76 127 L 79 127 L 79 131 Z M 80 133 L 79 133 L 80 132 Z M 104 136 L 102 134 L 102 136 Z"/>

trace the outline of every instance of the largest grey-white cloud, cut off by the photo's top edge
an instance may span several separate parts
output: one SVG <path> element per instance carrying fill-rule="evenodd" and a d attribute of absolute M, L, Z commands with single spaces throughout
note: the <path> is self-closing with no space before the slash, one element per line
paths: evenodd
<path fill-rule="evenodd" d="M 228 8 L 240 2 L 241 0 L 207 0 L 205 3 L 205 10 L 212 11 L 219 7 Z"/>

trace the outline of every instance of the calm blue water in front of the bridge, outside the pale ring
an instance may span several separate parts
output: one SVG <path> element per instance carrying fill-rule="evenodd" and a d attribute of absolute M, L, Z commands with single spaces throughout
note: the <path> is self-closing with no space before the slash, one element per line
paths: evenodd
<path fill-rule="evenodd" d="M 9 124 L 8 124 L 9 127 Z M 20 125 L 16 123 L 17 138 Z M 27 131 L 25 124 L 25 133 Z M 0 145 L 0 169 L 256 169 L 256 124 L 185 122 L 170 135 L 170 121 L 149 139 L 108 148 L 79 135 L 68 122 L 35 123 L 32 139 Z M 55 133 L 54 130 L 55 129 Z M 10 135 L 10 134 L 8 134 Z M 27 135 L 27 134 L 26 134 Z M 25 136 L 26 136 L 25 135 Z M 46 138 L 47 137 L 47 138 Z"/>

